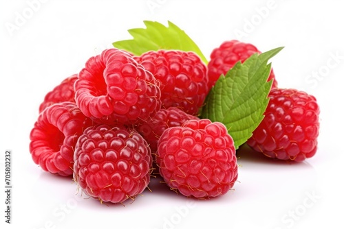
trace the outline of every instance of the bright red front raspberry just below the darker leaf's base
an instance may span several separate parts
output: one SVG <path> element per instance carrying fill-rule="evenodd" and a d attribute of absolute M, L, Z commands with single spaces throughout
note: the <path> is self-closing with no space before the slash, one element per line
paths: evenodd
<path fill-rule="evenodd" d="M 166 184 L 186 196 L 224 195 L 237 180 L 233 138 L 222 123 L 208 119 L 166 129 L 156 160 Z"/>

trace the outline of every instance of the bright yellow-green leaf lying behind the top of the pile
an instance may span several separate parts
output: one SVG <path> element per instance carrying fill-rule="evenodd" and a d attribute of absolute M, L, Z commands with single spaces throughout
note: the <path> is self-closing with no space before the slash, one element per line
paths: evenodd
<path fill-rule="evenodd" d="M 177 25 L 169 21 L 169 27 L 156 21 L 143 21 L 146 28 L 129 29 L 128 32 L 133 36 L 131 40 L 120 40 L 112 43 L 118 49 L 124 49 L 140 56 L 147 51 L 157 51 L 159 49 L 175 49 L 181 51 L 193 51 L 204 64 L 208 60 L 204 57 L 200 48 L 193 40 L 180 29 Z"/>

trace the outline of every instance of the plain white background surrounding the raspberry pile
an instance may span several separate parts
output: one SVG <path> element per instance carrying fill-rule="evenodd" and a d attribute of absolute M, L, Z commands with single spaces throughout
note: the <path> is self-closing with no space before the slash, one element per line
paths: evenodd
<path fill-rule="evenodd" d="M 343 228 L 343 1 L 4 0 L 0 9 L 0 151 L 13 152 L 12 224 L 1 191 L 1 228 Z M 241 152 L 235 191 L 196 201 L 154 180 L 125 207 L 84 199 L 72 179 L 43 172 L 28 145 L 44 95 L 144 20 L 172 21 L 207 58 L 235 38 L 286 47 L 272 67 L 280 87 L 318 99 L 316 155 L 290 164 Z"/>

